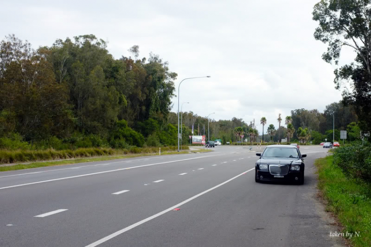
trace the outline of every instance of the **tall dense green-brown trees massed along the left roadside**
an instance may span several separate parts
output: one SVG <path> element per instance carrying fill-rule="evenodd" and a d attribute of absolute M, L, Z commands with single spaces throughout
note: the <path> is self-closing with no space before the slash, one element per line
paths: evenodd
<path fill-rule="evenodd" d="M 0 148 L 176 145 L 168 122 L 177 77 L 158 55 L 115 59 L 94 35 L 32 49 L 0 42 Z"/>

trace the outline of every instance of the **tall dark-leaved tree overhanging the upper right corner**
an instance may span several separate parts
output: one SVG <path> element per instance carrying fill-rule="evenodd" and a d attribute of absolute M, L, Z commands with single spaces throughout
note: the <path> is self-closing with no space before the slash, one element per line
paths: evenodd
<path fill-rule="evenodd" d="M 337 65 L 342 48 L 355 51 L 354 62 L 335 69 L 334 83 L 351 83 L 343 101 L 356 106 L 362 128 L 371 127 L 371 4 L 370 0 L 322 0 L 314 6 L 313 19 L 319 22 L 314 37 L 328 44 L 322 58 Z"/>

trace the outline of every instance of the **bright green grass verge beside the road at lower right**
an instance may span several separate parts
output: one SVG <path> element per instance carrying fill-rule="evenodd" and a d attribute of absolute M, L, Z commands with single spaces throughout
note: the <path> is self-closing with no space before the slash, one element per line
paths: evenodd
<path fill-rule="evenodd" d="M 333 165 L 333 156 L 317 159 L 318 187 L 326 200 L 326 210 L 332 212 L 342 225 L 344 236 L 354 247 L 371 246 L 371 185 L 347 178 Z M 360 232 L 355 237 L 355 232 Z"/>

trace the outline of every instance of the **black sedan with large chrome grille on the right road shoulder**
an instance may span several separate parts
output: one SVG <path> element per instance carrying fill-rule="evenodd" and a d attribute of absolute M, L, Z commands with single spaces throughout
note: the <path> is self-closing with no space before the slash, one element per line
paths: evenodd
<path fill-rule="evenodd" d="M 304 184 L 304 162 L 307 154 L 301 154 L 295 146 L 271 145 L 255 164 L 255 182 L 259 181 L 294 181 Z"/>

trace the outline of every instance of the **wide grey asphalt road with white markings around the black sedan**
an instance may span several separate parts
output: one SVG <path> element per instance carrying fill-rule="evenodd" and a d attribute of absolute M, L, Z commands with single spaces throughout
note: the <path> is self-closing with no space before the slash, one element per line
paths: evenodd
<path fill-rule="evenodd" d="M 148 156 L 0 173 L 0 247 L 341 246 L 301 147 L 303 186 L 255 183 L 255 152 Z M 180 210 L 173 210 L 180 208 Z"/>

